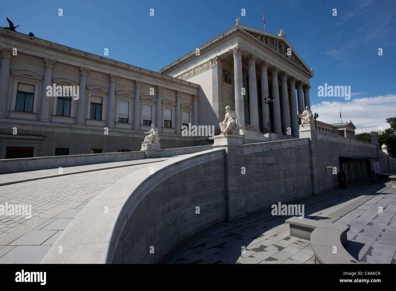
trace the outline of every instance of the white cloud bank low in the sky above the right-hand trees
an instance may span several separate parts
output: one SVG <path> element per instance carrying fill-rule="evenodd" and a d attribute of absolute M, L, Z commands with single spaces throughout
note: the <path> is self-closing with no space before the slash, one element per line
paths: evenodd
<path fill-rule="evenodd" d="M 339 121 L 340 108 L 343 122 L 351 120 L 356 126 L 355 133 L 378 131 L 389 128 L 386 118 L 396 116 L 396 94 L 366 98 L 354 98 L 345 101 L 322 101 L 311 106 L 312 112 L 318 112 L 318 120 L 322 122 Z"/>

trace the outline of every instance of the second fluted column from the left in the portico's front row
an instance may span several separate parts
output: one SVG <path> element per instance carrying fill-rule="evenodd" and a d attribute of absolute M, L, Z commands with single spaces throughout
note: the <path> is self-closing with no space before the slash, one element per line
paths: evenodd
<path fill-rule="evenodd" d="M 249 101 L 250 101 L 250 124 L 254 129 L 260 129 L 259 124 L 259 103 L 257 101 L 257 80 L 256 80 L 256 60 L 255 55 L 249 56 Z"/>

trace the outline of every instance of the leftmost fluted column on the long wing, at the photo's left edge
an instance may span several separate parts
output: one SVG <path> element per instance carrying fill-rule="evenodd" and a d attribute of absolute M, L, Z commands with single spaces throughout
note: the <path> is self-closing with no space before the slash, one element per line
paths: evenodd
<path fill-rule="evenodd" d="M 1 51 L 0 117 L 6 117 L 7 93 L 8 93 L 8 82 L 10 80 L 10 65 L 11 65 L 12 49 L 0 48 L 0 51 Z"/>

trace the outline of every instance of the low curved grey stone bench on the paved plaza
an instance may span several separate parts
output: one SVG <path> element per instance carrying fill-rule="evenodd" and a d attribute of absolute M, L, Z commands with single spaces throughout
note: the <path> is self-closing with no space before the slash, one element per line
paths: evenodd
<path fill-rule="evenodd" d="M 360 264 L 344 248 L 349 226 L 316 221 L 296 216 L 286 219 L 290 235 L 310 240 L 317 264 Z M 333 253 L 334 246 L 337 253 Z"/>

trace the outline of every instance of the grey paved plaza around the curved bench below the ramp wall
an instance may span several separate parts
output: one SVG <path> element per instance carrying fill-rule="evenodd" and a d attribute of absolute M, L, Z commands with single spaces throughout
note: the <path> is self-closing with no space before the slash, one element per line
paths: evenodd
<path fill-rule="evenodd" d="M 352 251 L 356 251 L 356 247 L 360 248 L 361 262 L 394 263 L 396 248 L 381 242 L 389 243 L 393 240 L 393 245 L 396 242 L 396 232 L 391 221 L 396 212 L 395 190 L 390 187 L 390 183 L 378 184 L 366 180 L 350 184 L 346 189 L 333 189 L 319 196 L 309 196 L 293 204 L 305 205 L 306 218 L 329 222 L 338 220 L 337 223 L 344 225 L 349 223 L 351 231 L 348 232 L 348 240 L 354 239 L 346 249 L 354 256 Z M 375 214 L 375 211 L 378 213 L 379 201 L 385 208 L 382 216 Z M 268 209 L 227 223 L 202 235 L 186 248 L 176 263 L 314 264 L 315 257 L 310 242 L 290 236 L 289 224 L 284 223 L 288 217 L 272 216 L 270 211 Z M 362 213 L 367 211 L 369 214 L 364 216 Z M 373 223 L 376 219 L 379 220 Z M 376 233 L 365 230 L 373 229 L 370 226 L 372 223 L 378 232 L 377 236 Z M 376 240 L 380 233 L 383 238 Z M 376 247 L 372 249 L 371 245 Z M 242 253 L 242 247 L 245 248 L 245 253 Z M 374 258 L 374 255 L 377 257 Z"/>

